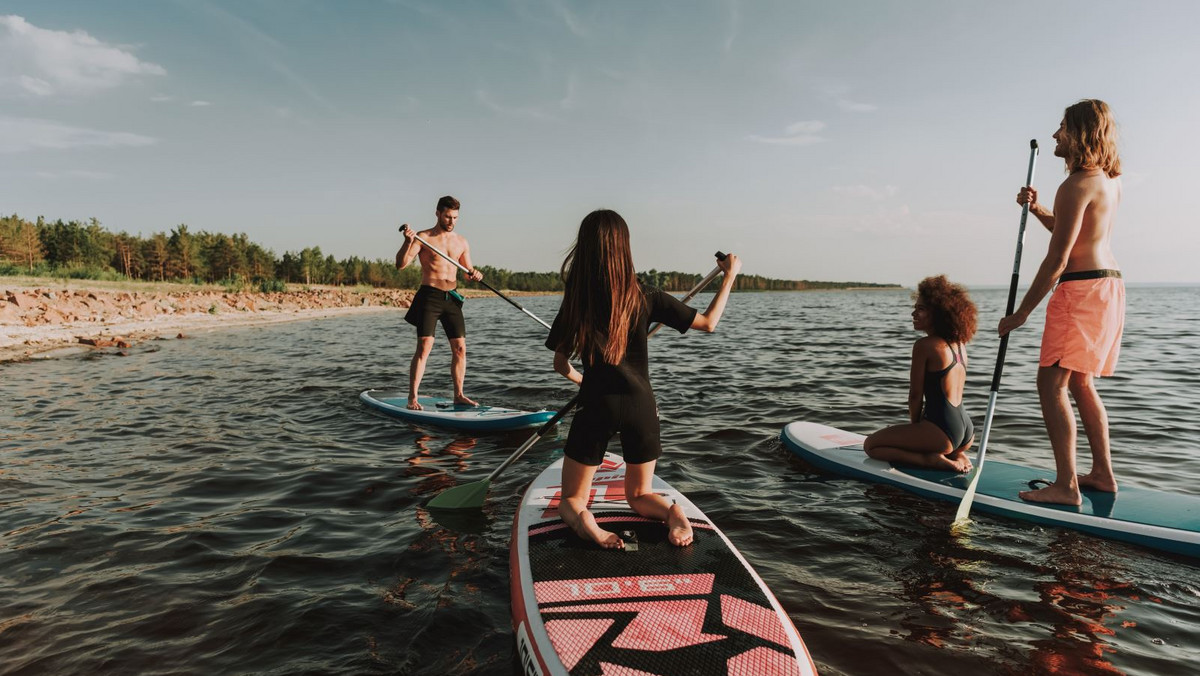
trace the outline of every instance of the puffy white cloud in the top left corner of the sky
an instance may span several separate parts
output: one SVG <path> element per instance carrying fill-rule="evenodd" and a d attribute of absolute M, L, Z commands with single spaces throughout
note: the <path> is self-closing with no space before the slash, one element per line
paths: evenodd
<path fill-rule="evenodd" d="M 48 30 L 16 14 L 0 16 L 0 92 L 80 95 L 164 74 L 166 68 L 138 59 L 128 47 L 82 30 Z"/>

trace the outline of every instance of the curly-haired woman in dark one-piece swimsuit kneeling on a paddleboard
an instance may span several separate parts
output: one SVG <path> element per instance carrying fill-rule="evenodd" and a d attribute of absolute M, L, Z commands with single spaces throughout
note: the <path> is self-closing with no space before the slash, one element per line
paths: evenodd
<path fill-rule="evenodd" d="M 978 310 L 967 289 L 944 275 L 926 277 L 913 294 L 912 328 L 925 337 L 912 346 L 907 425 L 866 437 L 866 455 L 932 469 L 966 472 L 974 425 L 962 408 L 967 378 L 966 343 L 976 333 Z"/>

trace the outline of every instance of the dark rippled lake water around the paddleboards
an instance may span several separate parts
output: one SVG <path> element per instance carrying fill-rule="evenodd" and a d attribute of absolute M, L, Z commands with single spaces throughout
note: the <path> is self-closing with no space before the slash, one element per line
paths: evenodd
<path fill-rule="evenodd" d="M 973 295 L 982 427 L 1006 291 Z M 522 304 L 550 321 L 558 300 Z M 1100 382 L 1118 478 L 1198 495 L 1200 287 L 1128 300 L 1118 375 Z M 792 420 L 904 421 L 908 311 L 900 291 L 737 294 L 716 334 L 664 331 L 659 473 L 742 549 L 822 674 L 1195 674 L 1200 561 L 983 514 L 952 537 L 953 504 L 782 448 Z M 541 327 L 498 299 L 467 313 L 468 394 L 571 396 Z M 360 405 L 407 382 L 401 315 L 0 365 L 0 674 L 511 672 L 514 508 L 566 426 L 482 514 L 434 520 L 424 502 L 529 432 L 418 429 Z M 989 456 L 1049 472 L 1040 324 L 1010 341 Z M 422 391 L 450 391 L 444 341 Z"/>

